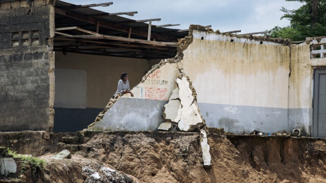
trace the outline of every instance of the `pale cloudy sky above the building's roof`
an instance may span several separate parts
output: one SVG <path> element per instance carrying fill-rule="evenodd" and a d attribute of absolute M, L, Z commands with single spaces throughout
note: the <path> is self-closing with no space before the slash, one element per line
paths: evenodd
<path fill-rule="evenodd" d="M 211 29 L 221 32 L 241 30 L 241 34 L 270 30 L 276 25 L 289 25 L 280 20 L 282 7 L 297 9 L 302 4 L 285 0 L 64 0 L 76 5 L 113 2 L 108 7 L 95 9 L 108 12 L 138 11 L 134 16 L 124 17 L 142 20 L 161 18 L 154 25 L 180 24 L 174 29 L 188 29 L 191 24 L 212 25 Z"/>

